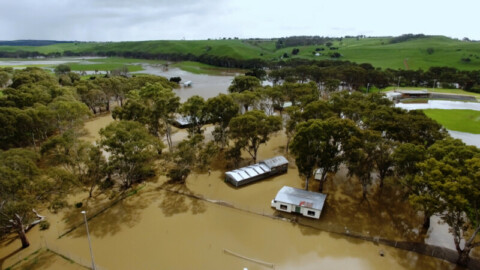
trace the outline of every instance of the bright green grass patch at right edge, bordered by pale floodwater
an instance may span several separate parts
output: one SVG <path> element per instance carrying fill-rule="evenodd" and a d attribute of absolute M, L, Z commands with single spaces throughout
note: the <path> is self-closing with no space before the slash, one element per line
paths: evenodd
<path fill-rule="evenodd" d="M 480 111 L 441 109 L 423 111 L 447 129 L 480 134 Z"/>

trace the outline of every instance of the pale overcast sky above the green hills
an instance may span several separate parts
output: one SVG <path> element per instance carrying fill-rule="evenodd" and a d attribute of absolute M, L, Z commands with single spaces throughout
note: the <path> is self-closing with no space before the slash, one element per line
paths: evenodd
<path fill-rule="evenodd" d="M 397 36 L 480 40 L 479 0 L 1 0 L 0 40 Z"/>

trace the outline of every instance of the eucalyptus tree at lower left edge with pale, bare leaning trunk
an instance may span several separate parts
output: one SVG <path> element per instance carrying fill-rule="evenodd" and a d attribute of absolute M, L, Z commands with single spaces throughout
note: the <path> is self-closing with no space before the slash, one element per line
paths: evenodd
<path fill-rule="evenodd" d="M 22 248 L 30 246 L 26 232 L 45 217 L 35 208 L 58 202 L 70 190 L 70 179 L 43 172 L 38 156 L 26 149 L 0 151 L 0 234 L 18 234 Z"/>

